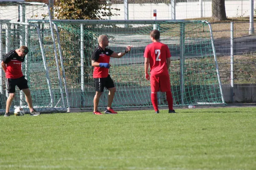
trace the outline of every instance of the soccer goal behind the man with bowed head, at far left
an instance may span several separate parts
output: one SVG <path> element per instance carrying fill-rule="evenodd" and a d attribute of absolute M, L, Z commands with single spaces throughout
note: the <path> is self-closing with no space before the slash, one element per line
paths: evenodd
<path fill-rule="evenodd" d="M 0 0 L 0 11 L 0 61 L 9 51 L 21 45 L 28 46 L 30 52 L 22 64 L 22 71 L 28 80 L 34 108 L 44 113 L 66 112 L 67 105 L 63 101 L 67 100 L 67 95 L 63 92 L 61 81 L 56 81 L 60 71 L 57 71 L 54 63 L 56 62 L 54 51 L 49 51 L 48 48 L 53 44 L 54 36 L 51 34 L 53 31 L 48 31 L 49 34 L 44 31 L 44 29 L 50 30 L 51 25 L 43 26 L 28 22 L 32 19 L 51 20 L 49 6 L 44 3 Z M 48 42 L 47 39 L 51 41 Z M 6 78 L 0 68 L 0 113 L 5 112 L 7 97 Z M 18 88 L 11 112 L 14 111 L 15 106 L 21 106 L 29 112 L 25 96 Z"/>

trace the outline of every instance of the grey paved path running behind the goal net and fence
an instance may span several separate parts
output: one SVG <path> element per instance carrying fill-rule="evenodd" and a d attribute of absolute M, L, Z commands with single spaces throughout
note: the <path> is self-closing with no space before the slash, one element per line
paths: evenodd
<path fill-rule="evenodd" d="M 116 37 L 119 42 L 119 38 Z M 130 44 L 125 44 L 131 40 Z M 202 55 L 212 55 L 212 46 L 209 39 L 201 39 L 205 43 L 196 43 L 194 40 L 186 40 L 185 45 L 185 56 L 186 58 L 201 57 Z M 171 51 L 172 59 L 180 58 L 180 47 L 175 44 L 177 40 L 165 40 Z M 114 65 L 123 64 L 140 64 L 144 62 L 143 53 L 145 46 L 150 43 L 148 37 L 145 35 L 140 35 L 134 37 L 133 35 L 126 36 L 124 43 L 111 42 L 111 49 L 114 51 L 120 51 L 120 49 L 125 49 L 127 45 L 134 45 L 134 48 L 129 54 L 126 54 L 122 59 L 111 59 Z M 216 39 L 214 41 L 215 52 L 217 56 L 230 56 L 230 39 Z M 234 39 L 233 44 L 233 54 L 234 55 L 244 55 L 244 54 L 256 54 L 256 36 L 245 36 Z"/>

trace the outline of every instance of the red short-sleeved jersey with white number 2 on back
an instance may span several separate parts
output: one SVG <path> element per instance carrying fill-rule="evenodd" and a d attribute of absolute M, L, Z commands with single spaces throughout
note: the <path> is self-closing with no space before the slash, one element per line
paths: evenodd
<path fill-rule="evenodd" d="M 144 57 L 149 58 L 151 75 L 169 75 L 166 58 L 170 58 L 171 53 L 167 45 L 161 42 L 147 45 Z"/>

